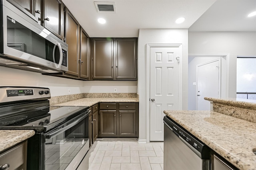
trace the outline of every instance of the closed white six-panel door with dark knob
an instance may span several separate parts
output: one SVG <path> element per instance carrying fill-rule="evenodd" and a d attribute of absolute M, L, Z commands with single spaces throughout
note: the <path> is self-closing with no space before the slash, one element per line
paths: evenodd
<path fill-rule="evenodd" d="M 164 141 L 163 111 L 178 110 L 181 48 L 150 48 L 150 141 Z"/>

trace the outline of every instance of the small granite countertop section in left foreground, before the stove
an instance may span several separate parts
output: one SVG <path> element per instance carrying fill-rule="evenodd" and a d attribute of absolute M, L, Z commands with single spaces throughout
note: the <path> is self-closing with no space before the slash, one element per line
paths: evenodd
<path fill-rule="evenodd" d="M 0 130 L 0 152 L 34 136 L 33 130 Z"/>

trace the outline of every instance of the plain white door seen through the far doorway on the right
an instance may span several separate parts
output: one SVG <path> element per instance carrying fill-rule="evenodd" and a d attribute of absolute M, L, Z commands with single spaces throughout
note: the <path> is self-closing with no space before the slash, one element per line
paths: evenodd
<path fill-rule="evenodd" d="M 220 98 L 220 59 L 196 66 L 197 110 L 210 110 L 204 97 Z"/>

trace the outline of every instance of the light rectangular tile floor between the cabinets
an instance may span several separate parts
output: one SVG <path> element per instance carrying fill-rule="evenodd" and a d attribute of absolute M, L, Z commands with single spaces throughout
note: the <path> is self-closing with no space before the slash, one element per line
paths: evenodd
<path fill-rule="evenodd" d="M 164 143 L 97 139 L 88 152 L 89 170 L 163 170 Z"/>

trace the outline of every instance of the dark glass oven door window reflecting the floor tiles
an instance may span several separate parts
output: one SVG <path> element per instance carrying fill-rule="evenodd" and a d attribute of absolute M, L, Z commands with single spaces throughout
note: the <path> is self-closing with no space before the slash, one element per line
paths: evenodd
<path fill-rule="evenodd" d="M 86 141 L 88 141 L 88 117 L 59 135 L 46 139 L 45 169 L 65 169 L 76 154 L 82 152 Z"/>

